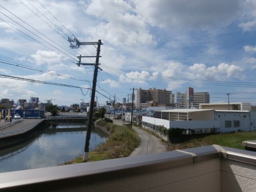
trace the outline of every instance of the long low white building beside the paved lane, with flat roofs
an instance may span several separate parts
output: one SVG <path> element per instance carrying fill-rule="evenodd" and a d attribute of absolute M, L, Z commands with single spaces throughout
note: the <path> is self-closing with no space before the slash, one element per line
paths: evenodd
<path fill-rule="evenodd" d="M 196 133 L 256 130 L 256 112 L 248 110 L 174 109 L 142 117 L 142 126 L 192 129 Z"/>

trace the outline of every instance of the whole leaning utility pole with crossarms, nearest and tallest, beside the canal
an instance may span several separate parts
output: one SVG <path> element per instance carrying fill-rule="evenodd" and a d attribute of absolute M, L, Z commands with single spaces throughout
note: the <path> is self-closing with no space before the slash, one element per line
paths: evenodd
<path fill-rule="evenodd" d="M 100 45 L 102 45 L 101 40 L 99 39 L 98 42 L 79 42 L 78 39 L 75 37 L 74 40 L 68 38 L 68 41 L 76 42 L 76 45 L 70 44 L 70 48 L 78 48 L 80 45 L 97 45 L 97 54 L 96 56 L 78 56 L 79 63 L 77 63 L 78 66 L 80 65 L 94 65 L 94 75 L 93 75 L 93 81 L 92 81 L 92 96 L 90 101 L 90 110 L 89 110 L 89 119 L 88 119 L 88 128 L 86 132 L 86 140 L 85 140 L 85 146 L 84 146 L 84 158 L 83 161 L 87 162 L 88 156 L 89 156 L 89 145 L 90 145 L 90 137 L 92 132 L 92 116 L 93 116 L 93 108 L 94 108 L 94 98 L 95 98 L 95 92 L 96 92 L 96 83 L 97 83 L 97 75 L 98 75 L 98 69 L 102 70 L 98 65 L 99 59 L 100 59 Z M 96 57 L 95 64 L 94 63 L 81 63 L 81 58 L 91 58 Z"/>

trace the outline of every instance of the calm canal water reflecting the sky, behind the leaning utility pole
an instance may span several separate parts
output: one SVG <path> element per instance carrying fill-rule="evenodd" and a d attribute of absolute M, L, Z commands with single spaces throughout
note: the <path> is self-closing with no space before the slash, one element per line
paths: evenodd
<path fill-rule="evenodd" d="M 87 125 L 58 124 L 42 130 L 34 140 L 0 150 L 0 172 L 57 166 L 84 154 Z M 90 151 L 106 142 L 106 134 L 92 128 Z"/>

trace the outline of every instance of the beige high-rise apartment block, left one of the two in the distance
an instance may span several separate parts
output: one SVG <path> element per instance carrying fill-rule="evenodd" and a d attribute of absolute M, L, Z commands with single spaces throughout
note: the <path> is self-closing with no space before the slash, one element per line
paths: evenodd
<path fill-rule="evenodd" d="M 141 104 L 148 102 L 158 103 L 160 105 L 170 104 L 170 94 L 172 92 L 166 89 L 150 88 L 143 90 L 142 88 L 137 88 L 135 93 L 135 107 L 140 110 Z"/>

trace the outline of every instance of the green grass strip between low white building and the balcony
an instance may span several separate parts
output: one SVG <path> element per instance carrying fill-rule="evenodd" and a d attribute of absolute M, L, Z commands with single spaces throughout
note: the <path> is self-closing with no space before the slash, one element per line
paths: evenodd
<path fill-rule="evenodd" d="M 192 139 L 187 142 L 170 144 L 168 150 L 171 151 L 176 149 L 186 149 L 212 144 L 217 144 L 220 146 L 226 146 L 231 148 L 244 149 L 244 147 L 242 146 L 242 142 L 246 140 L 256 140 L 256 131 L 209 135 L 203 138 Z"/>

